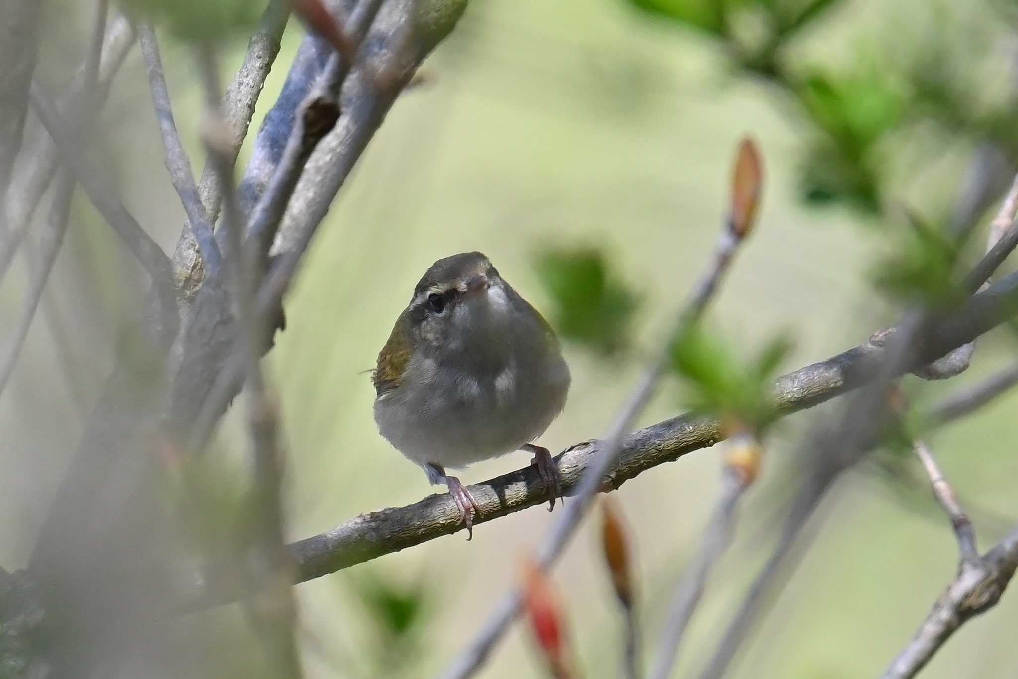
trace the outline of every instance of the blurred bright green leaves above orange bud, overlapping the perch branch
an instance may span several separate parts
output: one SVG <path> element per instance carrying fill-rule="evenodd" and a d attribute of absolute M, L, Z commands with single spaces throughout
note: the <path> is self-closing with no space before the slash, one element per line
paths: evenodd
<path fill-rule="evenodd" d="M 789 338 L 779 336 L 747 359 L 723 338 L 694 325 L 672 345 L 671 362 L 684 379 L 687 406 L 759 430 L 776 414 L 774 379 L 791 349 Z"/>

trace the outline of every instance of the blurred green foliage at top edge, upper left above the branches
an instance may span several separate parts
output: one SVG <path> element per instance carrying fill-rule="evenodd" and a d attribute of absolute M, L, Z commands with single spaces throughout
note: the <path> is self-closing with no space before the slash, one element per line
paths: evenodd
<path fill-rule="evenodd" d="M 215 40 L 249 33 L 264 0 L 115 0 L 125 14 L 165 26 L 184 40 Z"/>

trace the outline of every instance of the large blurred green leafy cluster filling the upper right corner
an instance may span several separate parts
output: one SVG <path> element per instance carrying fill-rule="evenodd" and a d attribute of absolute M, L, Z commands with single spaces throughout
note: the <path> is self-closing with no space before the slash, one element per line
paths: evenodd
<path fill-rule="evenodd" d="M 1018 159 L 1013 65 L 1000 53 L 1006 36 L 975 25 L 958 30 L 959 21 L 973 21 L 978 12 L 931 7 L 937 16 L 929 31 L 869 32 L 837 47 L 825 43 L 824 51 L 847 48 L 854 55 L 832 68 L 821 65 L 829 61 L 821 51 L 802 46 L 813 33 L 809 29 L 848 5 L 845 0 L 626 1 L 706 34 L 738 73 L 762 79 L 792 105 L 803 123 L 799 185 L 808 204 L 840 203 L 884 216 L 921 165 L 937 161 L 916 158 L 910 176 L 902 177 L 893 174 L 893 159 L 913 155 L 910 135 L 928 136 L 931 130 L 952 143 L 989 144 L 1012 165 Z M 1013 2 L 993 4 L 1001 16 L 1015 14 Z M 893 14 L 890 6 L 887 13 Z M 1006 87 L 987 96 L 985 76 Z M 928 154 L 928 144 L 919 146 Z"/>

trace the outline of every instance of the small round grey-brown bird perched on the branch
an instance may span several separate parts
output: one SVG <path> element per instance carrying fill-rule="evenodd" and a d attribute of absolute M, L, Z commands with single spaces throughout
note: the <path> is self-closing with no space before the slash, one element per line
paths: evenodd
<path fill-rule="evenodd" d="M 531 442 L 562 411 L 569 367 L 558 338 L 480 252 L 439 260 L 396 320 L 372 374 L 375 421 L 389 443 L 449 489 L 472 536 L 480 508 L 446 467 L 533 453 L 550 496 L 558 467 Z"/>

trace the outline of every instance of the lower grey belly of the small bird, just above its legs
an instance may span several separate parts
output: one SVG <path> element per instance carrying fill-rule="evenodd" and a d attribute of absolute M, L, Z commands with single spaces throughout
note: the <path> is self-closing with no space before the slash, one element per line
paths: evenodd
<path fill-rule="evenodd" d="M 375 419 L 393 446 L 421 464 L 459 467 L 519 449 L 544 434 L 569 387 L 561 358 L 506 366 L 489 379 L 435 364 L 415 369 L 419 381 L 410 383 L 420 388 L 378 399 Z"/>

